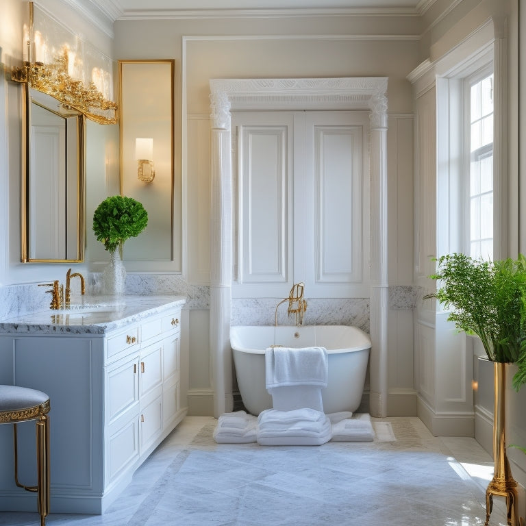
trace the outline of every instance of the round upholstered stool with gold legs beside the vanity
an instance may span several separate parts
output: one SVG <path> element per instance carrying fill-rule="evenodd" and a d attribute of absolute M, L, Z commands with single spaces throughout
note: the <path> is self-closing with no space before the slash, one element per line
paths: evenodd
<path fill-rule="evenodd" d="M 49 512 L 49 397 L 42 391 L 18 386 L 0 386 L 0 424 L 14 424 L 14 481 L 16 486 L 38 494 L 40 525 Z M 36 420 L 37 485 L 18 482 L 18 446 L 16 423 Z"/>

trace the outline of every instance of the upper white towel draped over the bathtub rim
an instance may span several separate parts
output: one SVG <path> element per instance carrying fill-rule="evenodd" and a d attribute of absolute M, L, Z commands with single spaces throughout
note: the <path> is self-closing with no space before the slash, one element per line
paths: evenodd
<path fill-rule="evenodd" d="M 266 388 L 312 385 L 327 387 L 325 347 L 269 347 L 265 351 Z"/>

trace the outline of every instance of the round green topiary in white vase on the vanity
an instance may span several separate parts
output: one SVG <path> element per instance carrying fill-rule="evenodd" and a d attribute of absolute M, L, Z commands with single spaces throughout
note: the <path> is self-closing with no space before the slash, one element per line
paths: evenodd
<path fill-rule="evenodd" d="M 113 195 L 102 201 L 93 214 L 97 240 L 110 252 L 110 263 L 103 271 L 103 292 L 124 293 L 126 271 L 122 262 L 123 244 L 138 236 L 148 224 L 148 212 L 132 197 Z"/>

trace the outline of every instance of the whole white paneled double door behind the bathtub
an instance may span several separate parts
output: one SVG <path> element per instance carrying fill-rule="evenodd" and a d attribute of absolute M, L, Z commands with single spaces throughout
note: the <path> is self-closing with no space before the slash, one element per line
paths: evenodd
<path fill-rule="evenodd" d="M 368 113 L 236 112 L 234 297 L 363 297 Z"/>

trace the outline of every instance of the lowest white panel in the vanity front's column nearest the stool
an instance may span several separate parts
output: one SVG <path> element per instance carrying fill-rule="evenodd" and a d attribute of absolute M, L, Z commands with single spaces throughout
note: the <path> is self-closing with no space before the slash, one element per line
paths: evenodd
<path fill-rule="evenodd" d="M 118 427 L 108 440 L 106 470 L 110 480 L 139 458 L 139 423 L 137 414 Z"/>

